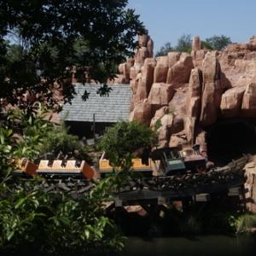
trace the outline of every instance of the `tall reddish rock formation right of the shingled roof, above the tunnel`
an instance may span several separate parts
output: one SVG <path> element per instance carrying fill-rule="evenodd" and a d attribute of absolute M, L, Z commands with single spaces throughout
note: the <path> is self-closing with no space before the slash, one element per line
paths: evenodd
<path fill-rule="evenodd" d="M 157 129 L 160 147 L 207 148 L 205 127 L 217 119 L 256 118 L 256 37 L 223 52 L 193 39 L 191 55 L 153 57 L 148 33 L 134 59 L 119 66 L 119 82 L 133 90 L 130 120 Z M 119 83 L 121 84 L 121 83 Z"/>

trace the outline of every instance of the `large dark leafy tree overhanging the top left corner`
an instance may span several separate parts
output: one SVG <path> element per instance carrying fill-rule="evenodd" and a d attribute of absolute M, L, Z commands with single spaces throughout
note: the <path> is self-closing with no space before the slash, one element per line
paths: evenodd
<path fill-rule="evenodd" d="M 90 67 L 92 79 L 105 83 L 106 75 L 113 78 L 113 67 L 134 55 L 134 38 L 144 31 L 139 15 L 126 9 L 127 3 L 128 0 L 1 1 L 0 97 L 29 109 L 32 102 L 24 96 L 27 93 L 51 108 L 56 103 L 55 92 L 60 90 L 53 85 L 58 82 L 65 101 L 70 102 L 74 94 L 70 83 L 73 65 L 79 67 L 79 77 Z M 19 58 L 9 59 L 16 48 L 12 44 L 19 45 Z M 97 72 L 99 67 L 101 72 Z M 106 92 L 106 86 L 99 88 L 99 93 Z"/>

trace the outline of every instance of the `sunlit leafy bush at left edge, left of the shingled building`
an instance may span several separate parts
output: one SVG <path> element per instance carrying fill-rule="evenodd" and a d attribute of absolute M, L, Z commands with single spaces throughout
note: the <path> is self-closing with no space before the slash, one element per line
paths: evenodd
<path fill-rule="evenodd" d="M 21 110 L 9 110 L 0 126 L 0 177 L 6 177 L 20 158 L 32 160 L 40 153 L 39 146 L 52 127 L 49 113 L 40 103 L 30 116 Z"/>

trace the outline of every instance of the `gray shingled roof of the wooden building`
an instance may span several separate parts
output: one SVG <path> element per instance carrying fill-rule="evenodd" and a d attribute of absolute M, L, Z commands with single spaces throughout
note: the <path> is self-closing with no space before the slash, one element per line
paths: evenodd
<path fill-rule="evenodd" d="M 109 84 L 112 88 L 109 96 L 100 96 L 96 90 L 101 84 L 74 84 L 77 95 L 73 98 L 72 105 L 65 104 L 61 111 L 60 119 L 69 112 L 66 121 L 93 122 L 95 113 L 96 122 L 116 123 L 119 120 L 128 120 L 132 90 L 129 84 Z M 89 99 L 84 102 L 81 96 L 84 90 L 90 92 Z"/>

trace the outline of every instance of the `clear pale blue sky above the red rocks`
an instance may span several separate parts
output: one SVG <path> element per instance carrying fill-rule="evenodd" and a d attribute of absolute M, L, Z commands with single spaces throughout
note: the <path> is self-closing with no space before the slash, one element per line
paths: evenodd
<path fill-rule="evenodd" d="M 221 36 L 249 43 L 256 36 L 255 0 L 128 0 L 154 41 L 154 54 L 166 42 L 177 45 L 183 34 L 201 40 Z"/>

